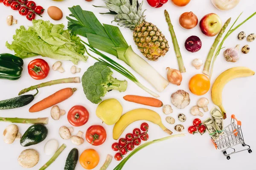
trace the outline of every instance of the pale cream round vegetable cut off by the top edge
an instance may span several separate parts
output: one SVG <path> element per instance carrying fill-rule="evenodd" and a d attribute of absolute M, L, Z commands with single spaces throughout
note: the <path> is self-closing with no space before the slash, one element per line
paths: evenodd
<path fill-rule="evenodd" d="M 239 4 L 240 0 L 212 0 L 212 4 L 219 10 L 230 10 Z"/>

